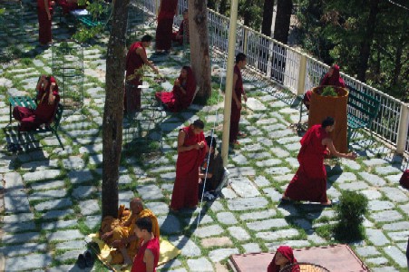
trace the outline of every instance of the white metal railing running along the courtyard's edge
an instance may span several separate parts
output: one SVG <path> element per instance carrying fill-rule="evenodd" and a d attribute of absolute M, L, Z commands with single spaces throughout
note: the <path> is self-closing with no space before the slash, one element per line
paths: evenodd
<path fill-rule="evenodd" d="M 149 6 L 153 6 L 151 3 L 156 1 L 158 0 L 144 0 L 145 5 Z M 187 2 L 179 0 L 180 14 L 187 8 Z M 210 46 L 221 53 L 227 53 L 229 18 L 208 9 L 208 22 Z M 253 70 L 281 84 L 295 95 L 311 90 L 329 68 L 325 63 L 242 24 L 237 27 L 236 53 L 239 52 L 247 55 L 248 66 Z M 408 105 L 345 73 L 341 73 L 341 76 L 346 85 L 380 100 L 380 111 L 369 129 L 394 145 L 398 153 L 409 152 Z"/>

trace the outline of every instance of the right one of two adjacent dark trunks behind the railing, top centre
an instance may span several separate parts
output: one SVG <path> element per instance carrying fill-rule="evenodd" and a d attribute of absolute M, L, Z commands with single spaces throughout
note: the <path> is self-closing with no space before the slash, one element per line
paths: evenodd
<path fill-rule="evenodd" d="M 283 44 L 287 44 L 292 9 L 292 0 L 278 0 L 274 39 Z"/>

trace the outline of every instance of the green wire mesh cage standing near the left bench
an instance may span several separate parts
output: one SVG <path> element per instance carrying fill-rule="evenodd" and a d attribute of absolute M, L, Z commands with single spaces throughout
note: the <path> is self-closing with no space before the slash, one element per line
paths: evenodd
<path fill-rule="evenodd" d="M 83 46 L 74 40 L 57 41 L 52 47 L 53 75 L 61 103 L 67 108 L 83 106 Z"/>

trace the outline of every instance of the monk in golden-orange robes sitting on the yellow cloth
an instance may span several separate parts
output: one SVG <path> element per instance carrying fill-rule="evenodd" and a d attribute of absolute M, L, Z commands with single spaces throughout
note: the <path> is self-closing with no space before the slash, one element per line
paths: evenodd
<path fill-rule="evenodd" d="M 130 210 L 124 209 L 121 205 L 118 210 L 118 219 L 105 217 L 102 219 L 100 237 L 116 251 L 111 252 L 112 265 L 124 263 L 132 265 L 133 257 L 138 253 L 141 245 L 139 238 L 134 233 L 135 222 L 137 219 L 149 217 L 152 222 L 152 233 L 155 238 L 160 236 L 158 219 L 156 219 L 150 209 L 143 209 L 141 199 L 131 199 Z"/>

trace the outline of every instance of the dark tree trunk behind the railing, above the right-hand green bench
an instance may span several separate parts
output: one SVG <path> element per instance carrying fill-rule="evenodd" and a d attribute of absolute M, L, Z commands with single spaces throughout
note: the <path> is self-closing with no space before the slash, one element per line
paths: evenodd
<path fill-rule="evenodd" d="M 359 54 L 359 63 L 357 71 L 357 79 L 365 83 L 365 73 L 368 68 L 369 55 L 371 53 L 371 44 L 374 40 L 374 33 L 376 27 L 376 15 L 379 12 L 378 9 L 379 0 L 369 1 L 369 16 L 366 20 L 365 35 L 361 43 L 361 50 Z"/>

